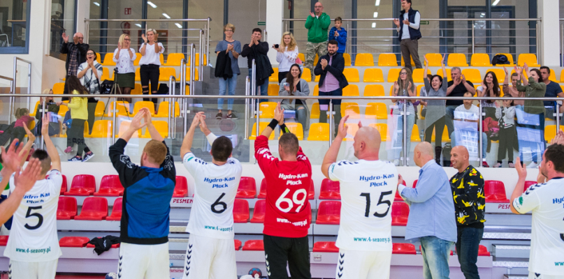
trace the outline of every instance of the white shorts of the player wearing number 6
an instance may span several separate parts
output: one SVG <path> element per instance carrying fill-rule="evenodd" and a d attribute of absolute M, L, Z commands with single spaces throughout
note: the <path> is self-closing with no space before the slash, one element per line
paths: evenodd
<path fill-rule="evenodd" d="M 237 279 L 233 239 L 190 234 L 183 279 Z"/>

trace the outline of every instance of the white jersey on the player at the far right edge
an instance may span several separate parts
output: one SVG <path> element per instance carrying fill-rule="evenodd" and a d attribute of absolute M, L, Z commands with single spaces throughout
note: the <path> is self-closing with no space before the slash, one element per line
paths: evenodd
<path fill-rule="evenodd" d="M 513 207 L 533 211 L 529 271 L 564 276 L 564 178 L 530 186 Z"/>

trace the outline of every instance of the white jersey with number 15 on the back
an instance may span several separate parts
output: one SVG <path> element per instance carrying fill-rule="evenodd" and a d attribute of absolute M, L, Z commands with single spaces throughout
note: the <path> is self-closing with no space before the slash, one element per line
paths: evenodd
<path fill-rule="evenodd" d="M 340 181 L 341 189 L 336 246 L 346 250 L 392 250 L 391 204 L 398 186 L 396 166 L 381 160 L 342 160 L 329 167 L 329 178 Z"/>

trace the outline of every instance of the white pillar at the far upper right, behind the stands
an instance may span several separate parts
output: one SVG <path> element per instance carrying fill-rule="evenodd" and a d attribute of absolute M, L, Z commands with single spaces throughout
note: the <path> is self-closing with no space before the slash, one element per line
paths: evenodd
<path fill-rule="evenodd" d="M 538 0 L 537 17 L 540 23 L 540 65 L 560 66 L 560 23 L 558 20 L 558 2 L 554 0 Z"/>

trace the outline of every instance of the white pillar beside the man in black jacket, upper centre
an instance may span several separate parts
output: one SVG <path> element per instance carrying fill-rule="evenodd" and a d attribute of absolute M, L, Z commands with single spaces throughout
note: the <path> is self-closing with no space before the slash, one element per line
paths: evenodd
<path fill-rule="evenodd" d="M 282 38 L 282 16 L 284 15 L 283 4 L 286 1 L 266 0 L 266 31 L 268 32 L 268 45 L 280 43 Z M 276 51 L 270 48 L 268 58 L 273 67 L 277 67 Z"/>

